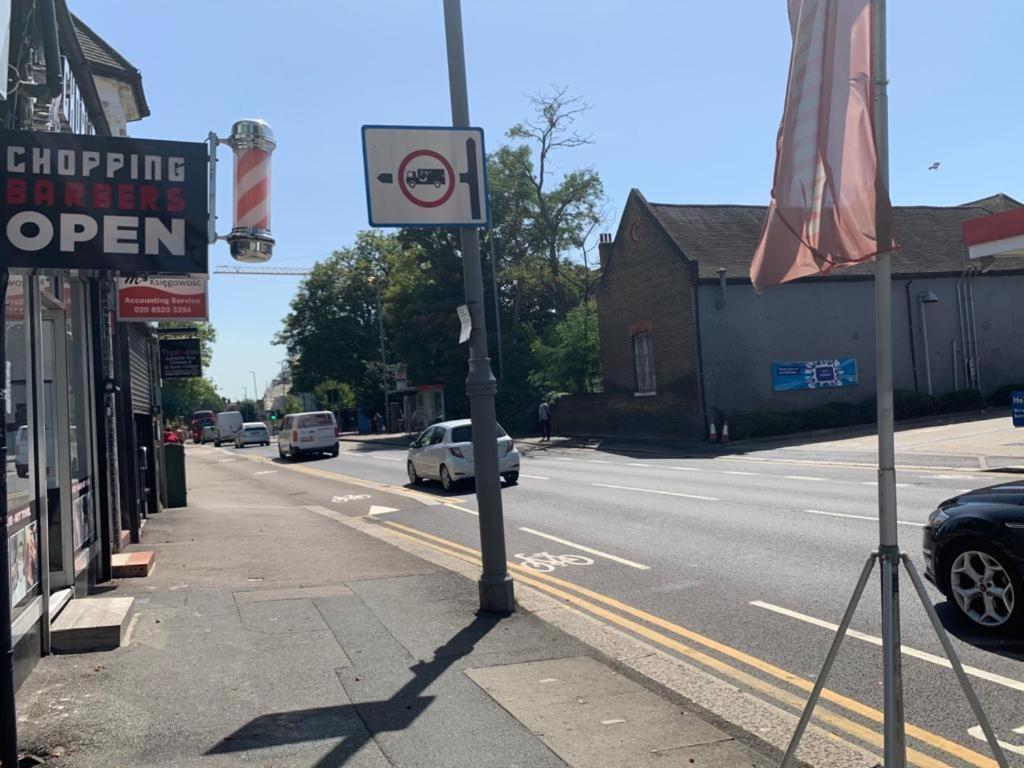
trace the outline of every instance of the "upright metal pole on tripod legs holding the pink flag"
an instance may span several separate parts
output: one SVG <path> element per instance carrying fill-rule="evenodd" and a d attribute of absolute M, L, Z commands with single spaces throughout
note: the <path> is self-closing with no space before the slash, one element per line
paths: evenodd
<path fill-rule="evenodd" d="M 889 245 L 889 94 L 886 74 L 886 0 L 871 0 L 871 80 L 878 244 Z M 896 450 L 893 403 L 892 253 L 874 261 L 876 390 L 879 408 L 879 563 L 882 570 L 882 660 L 885 764 L 906 765 L 903 670 L 899 621 L 899 541 L 896 532 Z"/>

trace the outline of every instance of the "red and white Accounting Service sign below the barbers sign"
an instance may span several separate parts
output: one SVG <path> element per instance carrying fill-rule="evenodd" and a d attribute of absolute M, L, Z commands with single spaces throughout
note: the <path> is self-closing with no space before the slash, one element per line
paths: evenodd
<path fill-rule="evenodd" d="M 118 278 L 118 319 L 205 321 L 207 275 Z"/>

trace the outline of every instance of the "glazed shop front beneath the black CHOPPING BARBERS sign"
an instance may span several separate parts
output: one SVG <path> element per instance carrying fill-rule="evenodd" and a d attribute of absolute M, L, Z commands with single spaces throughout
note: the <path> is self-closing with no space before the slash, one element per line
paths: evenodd
<path fill-rule="evenodd" d="M 7 276 L 7 536 L 18 682 L 50 618 L 97 579 L 90 290 L 70 272 Z"/>

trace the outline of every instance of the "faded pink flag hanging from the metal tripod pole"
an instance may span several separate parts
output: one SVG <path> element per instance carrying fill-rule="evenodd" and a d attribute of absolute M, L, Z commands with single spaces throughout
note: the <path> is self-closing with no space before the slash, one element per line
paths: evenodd
<path fill-rule="evenodd" d="M 894 248 L 871 123 L 870 0 L 790 0 L 790 26 L 772 202 L 751 263 L 759 293 Z"/>

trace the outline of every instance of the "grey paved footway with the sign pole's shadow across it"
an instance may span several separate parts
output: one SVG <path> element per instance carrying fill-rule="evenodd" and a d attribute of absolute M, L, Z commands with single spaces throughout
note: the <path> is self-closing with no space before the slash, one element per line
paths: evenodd
<path fill-rule="evenodd" d="M 447 503 L 315 464 L 189 445 L 189 506 L 143 531 L 155 570 L 102 588 L 135 598 L 126 644 L 42 659 L 22 748 L 83 768 L 778 763 L 685 695 L 735 689 L 522 584 L 515 613 L 479 613 L 478 561 L 380 522 Z M 823 734 L 805 754 L 871 764 Z"/>

